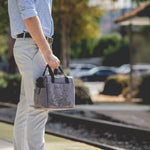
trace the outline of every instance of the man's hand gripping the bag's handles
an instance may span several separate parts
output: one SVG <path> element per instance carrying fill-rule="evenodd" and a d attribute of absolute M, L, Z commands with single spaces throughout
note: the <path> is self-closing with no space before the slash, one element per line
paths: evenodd
<path fill-rule="evenodd" d="M 44 53 L 44 58 L 53 72 L 59 67 L 60 61 L 52 52 L 47 51 L 46 53 Z"/>

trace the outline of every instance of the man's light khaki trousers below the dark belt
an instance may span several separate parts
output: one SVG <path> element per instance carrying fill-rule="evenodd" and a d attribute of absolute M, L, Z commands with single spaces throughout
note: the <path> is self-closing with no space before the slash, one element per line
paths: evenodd
<path fill-rule="evenodd" d="M 35 42 L 31 38 L 18 38 L 14 46 L 14 57 L 19 72 L 24 81 L 24 93 L 26 105 L 19 103 L 18 113 L 23 111 L 21 115 L 16 116 L 15 124 L 15 150 L 27 150 L 24 141 L 27 142 L 29 150 L 44 150 L 44 133 L 45 124 L 48 118 L 48 111 L 37 110 L 34 108 L 34 88 L 35 80 L 42 75 L 46 61 L 42 52 L 38 49 Z M 48 72 L 47 72 L 48 73 Z M 20 120 L 23 121 L 20 121 Z M 22 127 L 26 125 L 26 129 Z M 22 131 L 18 133 L 17 131 Z M 24 131 L 24 132 L 23 132 Z M 26 143 L 25 142 L 25 143 Z M 19 149 L 17 149 L 19 148 Z"/>

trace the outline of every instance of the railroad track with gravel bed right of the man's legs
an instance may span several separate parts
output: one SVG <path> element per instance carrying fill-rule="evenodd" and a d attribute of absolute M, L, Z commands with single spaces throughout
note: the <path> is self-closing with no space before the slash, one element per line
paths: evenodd
<path fill-rule="evenodd" d="M 77 115 L 72 115 L 72 114 L 66 114 L 63 112 L 55 111 L 51 112 L 50 114 L 50 120 L 49 120 L 49 125 L 56 123 L 57 126 L 58 124 L 62 124 L 60 127 L 60 130 L 57 129 L 52 129 L 50 126 L 49 128 L 52 130 L 47 131 L 47 133 L 58 135 L 61 137 L 69 138 L 72 140 L 76 141 L 81 141 L 90 145 L 94 145 L 96 147 L 100 147 L 103 149 L 108 149 L 108 150 L 121 150 L 121 149 L 136 149 L 136 150 L 148 150 L 150 149 L 150 130 L 148 129 L 143 129 L 140 127 L 135 127 L 135 126 L 130 126 L 130 125 L 124 125 L 120 123 L 115 123 L 115 122 L 110 122 L 110 121 L 104 121 L 104 120 L 97 120 L 97 119 L 92 119 L 92 118 L 86 118 L 86 117 L 80 117 Z M 64 125 L 65 124 L 65 125 Z M 73 132 L 63 132 L 63 130 L 67 130 L 67 127 L 72 127 L 75 129 L 75 132 L 77 130 L 82 130 L 84 129 L 84 133 L 88 132 L 89 137 L 84 137 L 81 135 L 76 136 Z M 86 129 L 86 130 L 85 130 Z M 96 132 L 97 137 L 102 139 L 106 139 L 108 142 L 102 142 L 101 140 L 98 140 L 99 138 L 91 138 L 90 134 L 91 132 Z M 73 134 L 72 134 L 73 133 Z M 83 134 L 84 134 L 83 133 Z M 114 136 L 115 135 L 115 136 Z M 112 144 L 115 137 L 115 140 L 121 141 L 122 143 L 124 142 L 125 144 L 129 144 L 129 147 L 126 146 L 120 146 L 119 145 L 116 147 L 116 144 Z M 96 139 L 96 140 L 95 140 Z M 105 144 L 101 144 L 105 143 Z M 109 144 L 111 143 L 111 144 Z M 121 148 L 122 147 L 122 148 Z M 138 147 L 138 148 L 137 148 Z"/>

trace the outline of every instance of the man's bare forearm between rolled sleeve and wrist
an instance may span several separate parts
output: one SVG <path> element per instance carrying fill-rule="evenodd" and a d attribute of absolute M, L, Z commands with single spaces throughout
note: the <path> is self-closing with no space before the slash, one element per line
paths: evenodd
<path fill-rule="evenodd" d="M 40 21 L 37 16 L 24 19 L 25 26 L 28 32 L 31 34 L 35 43 L 38 45 L 40 50 L 44 55 L 46 55 L 47 51 L 51 51 L 48 42 L 43 34 Z"/>

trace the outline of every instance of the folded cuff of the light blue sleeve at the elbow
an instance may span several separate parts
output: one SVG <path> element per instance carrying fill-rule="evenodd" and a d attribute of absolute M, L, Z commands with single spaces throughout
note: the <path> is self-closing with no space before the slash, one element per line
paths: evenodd
<path fill-rule="evenodd" d="M 22 10 L 22 11 L 20 11 L 20 14 L 21 14 L 21 17 L 23 19 L 27 19 L 27 18 L 30 18 L 30 17 L 37 16 L 37 12 L 36 12 L 35 9 Z"/>

